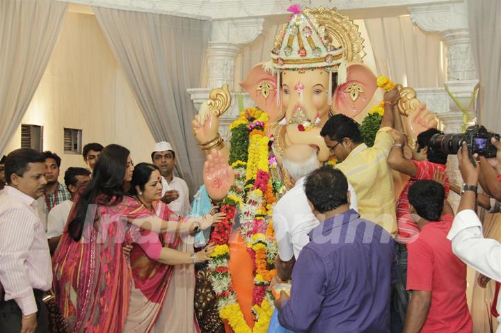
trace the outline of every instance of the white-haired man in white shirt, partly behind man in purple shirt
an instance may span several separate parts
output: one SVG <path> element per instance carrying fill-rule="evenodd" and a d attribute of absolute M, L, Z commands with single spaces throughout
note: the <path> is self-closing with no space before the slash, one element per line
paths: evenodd
<path fill-rule="evenodd" d="M 319 225 L 306 200 L 304 180 L 319 168 L 317 149 L 308 145 L 292 145 L 283 156 L 283 167 L 289 173 L 294 187 L 278 200 L 273 209 L 273 228 L 278 243 L 276 260 L 278 282 L 288 281 L 299 252 L 310 243 L 308 232 Z M 358 210 L 355 190 L 348 184 L 350 208 Z"/>

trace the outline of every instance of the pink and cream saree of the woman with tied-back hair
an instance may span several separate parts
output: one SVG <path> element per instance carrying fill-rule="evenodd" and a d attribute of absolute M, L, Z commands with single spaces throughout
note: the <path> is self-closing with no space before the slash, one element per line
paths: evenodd
<path fill-rule="evenodd" d="M 162 202 L 156 204 L 156 214 L 162 220 L 178 218 Z M 149 233 L 142 232 L 143 236 Z M 156 237 L 164 247 L 193 252 L 192 239 L 184 239 L 184 236 L 177 234 Z M 138 244 L 134 244 L 130 259 L 134 281 L 124 332 L 200 332 L 193 310 L 193 265 L 170 266 L 159 263 L 148 258 Z"/>

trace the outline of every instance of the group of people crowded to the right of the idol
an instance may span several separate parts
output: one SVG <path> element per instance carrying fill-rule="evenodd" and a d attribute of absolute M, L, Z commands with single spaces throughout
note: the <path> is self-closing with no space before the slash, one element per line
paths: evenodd
<path fill-rule="evenodd" d="M 445 171 L 447 154 L 431 147 L 441 132 L 423 131 L 411 149 L 393 107 L 398 98 L 395 90 L 385 95 L 372 147 L 351 118 L 328 120 L 321 136 L 335 170 L 318 168 L 310 147 L 286 152 L 283 166 L 296 185 L 273 210 L 273 283 L 292 289 L 276 300 L 278 332 L 472 332 L 466 264 L 484 287 L 485 279 L 499 281 L 501 245 L 482 237 L 475 202 L 480 195 L 479 204 L 499 212 L 501 144 L 492 140 L 497 159 L 480 156 L 475 165 L 468 147 L 459 149 L 464 186 L 457 190 Z M 397 200 L 395 172 L 408 179 Z M 450 188 L 462 195 L 456 218 Z M 498 320 L 500 308 L 496 296 Z"/>

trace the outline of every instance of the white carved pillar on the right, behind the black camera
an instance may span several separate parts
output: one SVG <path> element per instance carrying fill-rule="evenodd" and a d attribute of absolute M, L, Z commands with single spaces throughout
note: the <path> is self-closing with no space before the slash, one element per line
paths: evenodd
<path fill-rule="evenodd" d="M 412 21 L 424 31 L 439 33 L 447 44 L 447 79 L 445 84 L 463 106 L 468 106 L 472 92 L 478 83 L 472 45 L 468 31 L 468 13 L 466 3 L 457 1 L 451 3 L 431 4 L 410 7 Z M 447 96 L 448 99 L 450 97 Z M 443 121 L 445 131 L 460 133 L 463 125 L 463 113 L 450 99 L 450 110 L 437 113 Z M 470 111 L 470 118 L 475 114 Z M 456 156 L 450 156 L 447 169 L 450 180 L 461 184 Z M 454 204 L 459 204 L 459 197 L 452 196 Z M 454 206 L 454 205 L 453 205 Z"/>

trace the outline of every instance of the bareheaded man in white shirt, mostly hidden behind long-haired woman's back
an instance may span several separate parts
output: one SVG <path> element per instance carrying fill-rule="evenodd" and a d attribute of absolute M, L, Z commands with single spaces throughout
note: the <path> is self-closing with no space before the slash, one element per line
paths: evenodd
<path fill-rule="evenodd" d="M 49 248 L 51 254 L 54 253 L 56 247 L 64 232 L 67 218 L 70 216 L 70 211 L 73 206 L 74 196 L 79 193 L 81 188 L 85 188 L 90 181 L 90 172 L 85 168 L 67 168 L 65 172 L 65 185 L 70 191 L 71 197 L 69 200 L 56 205 L 50 212 L 47 218 L 47 239 L 49 240 Z"/>

